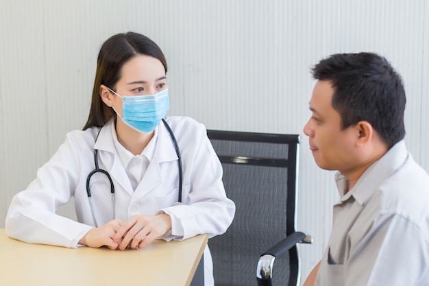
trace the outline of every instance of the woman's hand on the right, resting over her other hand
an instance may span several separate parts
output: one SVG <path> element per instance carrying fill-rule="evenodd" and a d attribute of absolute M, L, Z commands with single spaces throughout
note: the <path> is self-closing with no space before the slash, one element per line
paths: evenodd
<path fill-rule="evenodd" d="M 119 243 L 121 250 L 127 246 L 132 249 L 144 248 L 169 230 L 171 230 L 171 217 L 166 213 L 153 216 L 134 215 L 121 225 L 113 237 L 113 242 Z"/>

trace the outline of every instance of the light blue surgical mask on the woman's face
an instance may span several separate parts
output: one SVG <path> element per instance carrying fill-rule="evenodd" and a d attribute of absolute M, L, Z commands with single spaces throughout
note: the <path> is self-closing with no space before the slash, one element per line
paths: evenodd
<path fill-rule="evenodd" d="M 109 88 L 110 91 L 112 91 Z M 138 132 L 150 133 L 155 130 L 161 119 L 167 115 L 169 110 L 169 88 L 156 93 L 155 95 L 132 95 L 122 96 L 114 91 L 115 95 L 122 98 L 122 113 L 117 115 Z"/>

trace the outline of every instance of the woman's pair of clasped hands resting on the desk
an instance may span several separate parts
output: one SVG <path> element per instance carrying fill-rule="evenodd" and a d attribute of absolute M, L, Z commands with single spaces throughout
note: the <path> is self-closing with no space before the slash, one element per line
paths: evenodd
<path fill-rule="evenodd" d="M 113 219 L 103 226 L 92 228 L 79 243 L 93 248 L 107 246 L 112 250 L 144 248 L 169 230 L 171 218 L 166 213 L 154 216 L 134 215 L 127 222 Z"/>

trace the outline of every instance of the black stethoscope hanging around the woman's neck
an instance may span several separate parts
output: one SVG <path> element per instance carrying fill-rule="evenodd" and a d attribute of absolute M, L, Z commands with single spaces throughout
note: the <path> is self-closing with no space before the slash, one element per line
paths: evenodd
<path fill-rule="evenodd" d="M 171 136 L 171 141 L 173 142 L 173 145 L 175 148 L 175 153 L 177 154 L 177 158 L 179 158 L 179 160 L 177 162 L 178 167 L 179 167 L 179 195 L 177 198 L 178 203 L 175 203 L 175 204 L 181 204 L 182 203 L 182 184 L 183 184 L 183 182 L 182 182 L 183 181 L 182 156 L 180 156 L 179 145 L 177 144 L 177 140 L 175 139 L 173 131 L 171 130 L 170 126 L 167 124 L 167 121 L 162 119 L 162 122 L 164 123 L 165 128 L 167 128 L 167 131 L 169 132 L 169 134 Z M 100 131 L 101 131 L 101 129 L 100 129 Z M 97 142 L 100 131 L 98 132 L 97 137 L 95 138 L 95 142 Z M 97 219 L 95 219 L 93 197 L 91 195 L 91 191 L 90 191 L 90 187 L 89 187 L 91 177 L 96 173 L 101 173 L 101 174 L 106 175 L 106 177 L 108 178 L 108 180 L 110 182 L 110 194 L 112 195 L 113 218 L 115 218 L 116 216 L 114 214 L 114 184 L 113 184 L 112 178 L 110 177 L 108 171 L 99 168 L 99 166 L 98 166 L 98 149 L 95 149 L 95 148 L 94 148 L 94 163 L 95 163 L 95 169 L 93 169 L 93 171 L 91 171 L 90 174 L 88 174 L 88 177 L 86 178 L 86 194 L 88 195 L 89 205 L 91 208 L 91 213 L 93 213 L 95 226 L 98 227 Z"/>

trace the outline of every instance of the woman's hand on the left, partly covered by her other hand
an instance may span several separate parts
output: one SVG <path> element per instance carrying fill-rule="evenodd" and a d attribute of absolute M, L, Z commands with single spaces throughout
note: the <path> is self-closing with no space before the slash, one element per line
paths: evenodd
<path fill-rule="evenodd" d="M 123 224 L 124 222 L 121 221 L 121 219 L 114 219 L 99 228 L 91 228 L 88 233 L 79 240 L 79 243 L 91 248 L 107 246 L 115 250 L 118 248 L 119 243 L 121 243 L 121 239 L 114 241 L 114 236 Z"/>

